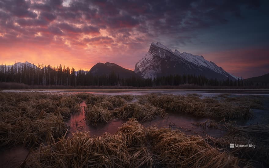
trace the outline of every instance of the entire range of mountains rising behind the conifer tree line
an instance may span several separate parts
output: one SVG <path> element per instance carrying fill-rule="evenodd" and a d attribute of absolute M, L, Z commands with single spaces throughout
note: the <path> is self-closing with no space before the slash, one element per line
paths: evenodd
<path fill-rule="evenodd" d="M 34 66 L 35 68 L 38 68 L 34 64 L 27 61 L 25 63 L 15 63 L 13 67 L 22 67 L 24 64 L 26 66 Z M 0 68 L 4 67 L 5 65 L 0 65 Z M 7 65 L 7 68 L 11 68 L 11 65 Z M 88 73 L 91 73 L 92 75 L 109 75 L 112 72 L 119 75 L 120 78 L 131 78 L 135 76 L 138 78 L 142 77 L 153 79 L 157 76 L 193 74 L 204 75 L 210 79 L 238 79 L 238 77 L 224 71 L 223 68 L 217 66 L 215 63 L 211 61 L 209 62 L 203 56 L 193 55 L 186 52 L 180 53 L 178 50 L 173 52 L 160 42 L 151 43 L 149 51 L 146 53 L 146 55 L 135 64 L 134 71 L 125 69 L 117 64 L 107 62 L 105 64 L 95 64 Z M 75 73 L 77 75 L 79 71 L 76 71 Z M 87 71 L 81 70 L 81 73 L 87 74 Z M 269 75 L 266 74 L 260 77 L 253 77 L 244 80 L 264 81 L 268 79 Z"/>

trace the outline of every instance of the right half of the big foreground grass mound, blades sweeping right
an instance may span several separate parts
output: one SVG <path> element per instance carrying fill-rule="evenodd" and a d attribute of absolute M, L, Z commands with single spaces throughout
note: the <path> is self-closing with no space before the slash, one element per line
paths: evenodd
<path fill-rule="evenodd" d="M 238 159 L 213 148 L 200 136 L 150 129 L 152 152 L 164 167 L 238 167 Z"/>

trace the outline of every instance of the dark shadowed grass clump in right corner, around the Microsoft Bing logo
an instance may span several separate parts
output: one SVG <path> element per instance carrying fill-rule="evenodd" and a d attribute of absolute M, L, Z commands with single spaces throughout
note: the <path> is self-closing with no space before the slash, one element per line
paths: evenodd
<path fill-rule="evenodd" d="M 217 147 L 227 148 L 240 158 L 253 159 L 269 165 L 269 125 L 230 126 L 227 135 L 221 138 L 209 138 Z M 229 144 L 251 144 L 253 147 L 229 148 Z"/>

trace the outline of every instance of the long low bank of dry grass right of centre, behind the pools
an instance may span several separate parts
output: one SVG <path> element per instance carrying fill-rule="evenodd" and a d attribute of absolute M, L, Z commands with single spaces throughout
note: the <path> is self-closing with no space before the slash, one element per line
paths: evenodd
<path fill-rule="evenodd" d="M 180 111 L 196 116 L 212 116 L 227 119 L 248 119 L 252 117 L 249 106 L 222 102 L 212 98 L 201 99 L 197 96 L 161 95 L 149 100 L 153 105 Z"/>

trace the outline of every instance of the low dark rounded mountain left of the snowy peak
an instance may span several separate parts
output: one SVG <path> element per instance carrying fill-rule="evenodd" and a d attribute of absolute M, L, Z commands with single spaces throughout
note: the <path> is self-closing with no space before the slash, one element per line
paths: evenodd
<path fill-rule="evenodd" d="M 119 75 L 120 78 L 130 78 L 132 76 L 138 77 L 138 75 L 129 69 L 125 69 L 114 63 L 97 63 L 89 71 L 93 75 L 109 75 L 110 73 L 115 72 L 116 75 Z"/>

